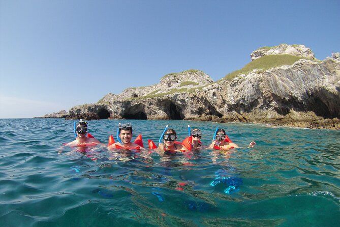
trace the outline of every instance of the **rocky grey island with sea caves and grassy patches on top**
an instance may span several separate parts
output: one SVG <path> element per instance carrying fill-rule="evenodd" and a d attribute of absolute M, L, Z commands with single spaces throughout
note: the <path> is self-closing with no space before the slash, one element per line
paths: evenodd
<path fill-rule="evenodd" d="M 200 70 L 107 94 L 74 106 L 66 119 L 172 119 L 253 122 L 340 129 L 340 58 L 317 60 L 304 45 L 281 44 L 251 53 L 251 62 L 219 81 Z"/>

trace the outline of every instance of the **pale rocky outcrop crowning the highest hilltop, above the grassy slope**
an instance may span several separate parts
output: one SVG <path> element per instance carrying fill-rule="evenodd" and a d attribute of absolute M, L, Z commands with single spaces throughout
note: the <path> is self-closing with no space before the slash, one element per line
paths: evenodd
<path fill-rule="evenodd" d="M 275 54 L 290 54 L 294 56 L 302 56 L 304 58 L 315 59 L 314 53 L 310 48 L 307 48 L 304 45 L 287 44 L 281 44 L 279 46 L 273 47 L 261 47 L 253 51 L 250 55 L 250 58 L 252 61 L 254 61 L 255 59 L 261 58 L 262 56 Z"/>

